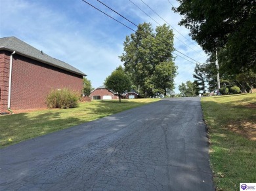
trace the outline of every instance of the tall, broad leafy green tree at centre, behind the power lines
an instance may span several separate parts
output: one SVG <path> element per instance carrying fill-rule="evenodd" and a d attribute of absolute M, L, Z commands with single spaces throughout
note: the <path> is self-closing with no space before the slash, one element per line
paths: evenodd
<path fill-rule="evenodd" d="M 171 54 L 174 50 L 173 31 L 169 26 L 156 27 L 154 33 L 150 23 L 139 24 L 136 33 L 127 36 L 123 46 L 124 52 L 119 58 L 124 62 L 125 71 L 130 73 L 133 84 L 140 86 L 142 96 L 166 94 L 167 89 L 174 88 L 177 67 Z M 168 66 L 170 68 L 163 72 Z"/>

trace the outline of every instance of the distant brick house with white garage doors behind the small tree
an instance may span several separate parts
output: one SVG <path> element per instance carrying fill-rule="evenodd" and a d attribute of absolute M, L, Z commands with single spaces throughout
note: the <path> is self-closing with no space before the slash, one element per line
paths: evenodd
<path fill-rule="evenodd" d="M 119 99 L 118 94 L 108 90 L 106 86 L 100 86 L 91 92 L 91 99 Z M 121 95 L 122 99 L 137 99 L 139 94 L 134 90 L 125 92 Z"/>

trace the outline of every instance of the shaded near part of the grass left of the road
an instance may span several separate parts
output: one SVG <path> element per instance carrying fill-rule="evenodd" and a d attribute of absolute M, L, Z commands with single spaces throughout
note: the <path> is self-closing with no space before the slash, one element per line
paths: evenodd
<path fill-rule="evenodd" d="M 60 118 L 60 113 L 44 113 L 30 116 L 27 113 L 0 117 L 0 148 L 32 139 L 47 133 L 66 129 L 81 123 L 79 118 Z"/>

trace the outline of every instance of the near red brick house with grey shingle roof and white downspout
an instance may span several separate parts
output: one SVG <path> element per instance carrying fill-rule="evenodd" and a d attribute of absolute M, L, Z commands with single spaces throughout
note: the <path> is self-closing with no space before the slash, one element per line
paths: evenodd
<path fill-rule="evenodd" d="M 0 113 L 7 109 L 45 108 L 53 89 L 81 94 L 83 72 L 16 37 L 0 38 Z"/>

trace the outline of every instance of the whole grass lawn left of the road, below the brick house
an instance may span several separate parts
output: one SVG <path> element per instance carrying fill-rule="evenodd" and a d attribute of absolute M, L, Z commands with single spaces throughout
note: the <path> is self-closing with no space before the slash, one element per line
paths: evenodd
<path fill-rule="evenodd" d="M 0 116 L 0 148 L 158 100 L 91 101 L 79 103 L 79 107 L 74 109 L 47 109 Z"/>

